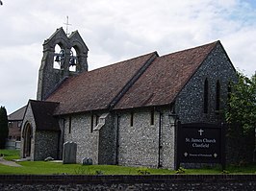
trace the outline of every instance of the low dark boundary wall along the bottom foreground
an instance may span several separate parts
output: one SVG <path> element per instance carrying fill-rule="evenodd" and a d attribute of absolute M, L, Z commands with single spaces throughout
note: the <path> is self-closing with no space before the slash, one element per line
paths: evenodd
<path fill-rule="evenodd" d="M 18 176 L 0 175 L 2 191 L 256 190 L 255 175 Z"/>

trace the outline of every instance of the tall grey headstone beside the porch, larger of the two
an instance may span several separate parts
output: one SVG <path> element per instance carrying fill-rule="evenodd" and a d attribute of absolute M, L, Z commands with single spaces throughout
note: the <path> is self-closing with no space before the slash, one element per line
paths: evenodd
<path fill-rule="evenodd" d="M 76 150 L 77 144 L 75 142 L 65 142 L 64 143 L 64 164 L 75 164 L 76 163 Z"/>

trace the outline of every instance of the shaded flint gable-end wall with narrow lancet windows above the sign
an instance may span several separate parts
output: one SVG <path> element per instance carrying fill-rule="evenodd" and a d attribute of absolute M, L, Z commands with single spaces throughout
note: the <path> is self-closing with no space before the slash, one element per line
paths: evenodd
<path fill-rule="evenodd" d="M 236 81 L 236 72 L 224 50 L 218 45 L 185 85 L 176 99 L 175 111 L 182 123 L 217 123 L 216 86 L 220 84 L 220 109 L 227 99 L 228 84 Z M 204 82 L 208 79 L 209 105 L 204 113 Z"/>

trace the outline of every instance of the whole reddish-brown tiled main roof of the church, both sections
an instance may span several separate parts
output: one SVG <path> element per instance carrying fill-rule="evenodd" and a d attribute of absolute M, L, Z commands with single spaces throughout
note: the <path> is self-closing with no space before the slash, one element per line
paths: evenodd
<path fill-rule="evenodd" d="M 171 104 L 217 43 L 162 57 L 154 52 L 84 72 L 67 79 L 46 101 L 60 103 L 55 115 L 108 109 L 114 101 L 114 109 Z M 150 64 L 140 72 L 146 62 Z M 131 84 L 138 73 L 141 77 Z"/>

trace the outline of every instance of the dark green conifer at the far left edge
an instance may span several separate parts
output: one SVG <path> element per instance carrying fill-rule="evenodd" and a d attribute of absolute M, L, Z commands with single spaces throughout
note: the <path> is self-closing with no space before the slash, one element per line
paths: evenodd
<path fill-rule="evenodd" d="M 5 107 L 0 107 L 0 149 L 5 148 L 8 133 L 9 129 L 7 111 Z"/>

